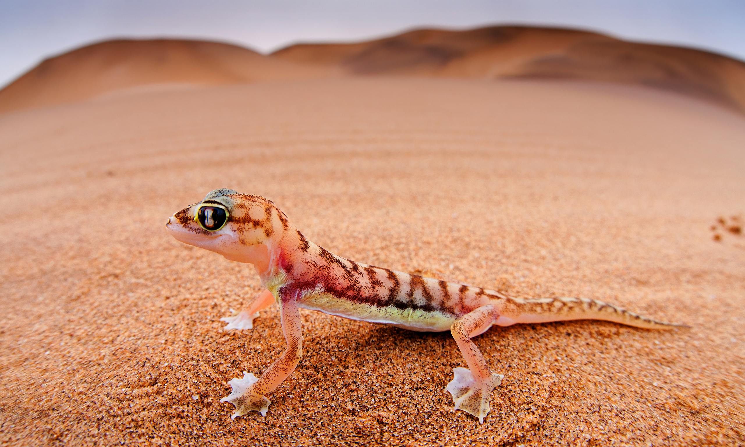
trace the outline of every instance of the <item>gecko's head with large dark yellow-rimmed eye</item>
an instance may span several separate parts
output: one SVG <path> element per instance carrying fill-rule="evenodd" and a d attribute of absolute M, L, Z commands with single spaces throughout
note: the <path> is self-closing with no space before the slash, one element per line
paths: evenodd
<path fill-rule="evenodd" d="M 257 248 L 269 245 L 288 228 L 288 221 L 264 197 L 215 189 L 201 202 L 168 218 L 165 227 L 185 244 L 220 253 L 232 261 L 256 264 Z"/>

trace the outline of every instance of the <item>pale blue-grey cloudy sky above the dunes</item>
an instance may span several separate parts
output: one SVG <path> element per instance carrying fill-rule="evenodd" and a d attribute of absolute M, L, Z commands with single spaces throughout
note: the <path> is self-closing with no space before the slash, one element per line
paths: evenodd
<path fill-rule="evenodd" d="M 0 86 L 114 37 L 189 37 L 269 52 L 419 27 L 554 25 L 745 60 L 745 0 L 0 0 Z"/>

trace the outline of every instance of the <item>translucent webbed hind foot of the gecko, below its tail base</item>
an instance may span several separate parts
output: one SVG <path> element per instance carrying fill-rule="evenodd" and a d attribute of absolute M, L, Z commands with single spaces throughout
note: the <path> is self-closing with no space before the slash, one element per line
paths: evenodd
<path fill-rule="evenodd" d="M 454 410 L 463 410 L 478 417 L 484 423 L 484 416 L 489 413 L 489 401 L 492 390 L 502 382 L 504 375 L 492 374 L 485 380 L 476 380 L 468 368 L 454 368 L 454 378 L 445 388 L 453 395 Z"/>

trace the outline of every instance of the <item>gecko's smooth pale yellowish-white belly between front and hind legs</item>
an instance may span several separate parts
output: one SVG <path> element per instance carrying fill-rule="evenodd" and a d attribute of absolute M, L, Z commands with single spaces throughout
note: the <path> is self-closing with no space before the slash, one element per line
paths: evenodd
<path fill-rule="evenodd" d="M 455 317 L 440 311 L 423 311 L 396 306 L 376 306 L 337 298 L 332 294 L 311 294 L 297 302 L 298 307 L 324 314 L 370 323 L 392 324 L 412 331 L 440 332 L 450 330 Z"/>

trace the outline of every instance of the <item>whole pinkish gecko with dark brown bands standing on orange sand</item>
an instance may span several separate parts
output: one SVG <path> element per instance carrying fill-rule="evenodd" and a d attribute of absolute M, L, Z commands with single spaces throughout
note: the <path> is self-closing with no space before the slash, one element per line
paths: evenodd
<path fill-rule="evenodd" d="M 287 346 L 263 374 L 244 372 L 228 382 L 235 406 L 231 418 L 258 411 L 265 416 L 271 393 L 302 356 L 299 309 L 385 323 L 425 332 L 450 331 L 467 368 L 456 367 L 446 390 L 454 410 L 484 423 L 492 390 L 504 375 L 493 373 L 472 338 L 491 326 L 564 320 L 606 320 L 644 329 L 687 327 L 642 317 L 597 299 L 517 298 L 499 291 L 351 261 L 308 241 L 271 200 L 216 189 L 168 218 L 178 241 L 253 264 L 263 291 L 244 311 L 221 320 L 226 329 L 252 329 L 259 311 L 276 303 Z"/>

